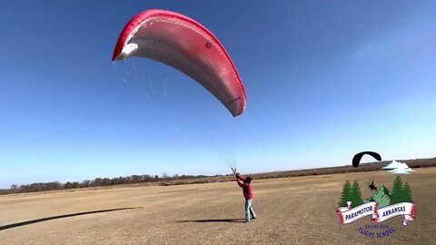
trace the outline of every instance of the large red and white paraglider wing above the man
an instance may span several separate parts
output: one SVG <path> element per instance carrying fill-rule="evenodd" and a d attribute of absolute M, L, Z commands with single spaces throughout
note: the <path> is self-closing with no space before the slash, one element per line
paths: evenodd
<path fill-rule="evenodd" d="M 203 25 L 170 11 L 148 10 L 124 27 L 114 60 L 142 56 L 192 77 L 233 114 L 246 104 L 243 83 L 223 44 Z"/>

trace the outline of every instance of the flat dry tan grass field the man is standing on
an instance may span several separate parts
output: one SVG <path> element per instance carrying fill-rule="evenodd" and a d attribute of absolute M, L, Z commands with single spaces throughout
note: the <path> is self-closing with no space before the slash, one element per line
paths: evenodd
<path fill-rule="evenodd" d="M 0 196 L 1 244 L 433 244 L 436 168 L 401 176 L 408 181 L 416 220 L 383 222 L 389 237 L 357 230 L 366 217 L 341 225 L 335 210 L 342 184 L 357 180 L 364 198 L 369 178 L 391 190 L 394 175 L 352 172 L 253 181 L 258 219 L 243 223 L 243 195 L 235 182 Z"/>

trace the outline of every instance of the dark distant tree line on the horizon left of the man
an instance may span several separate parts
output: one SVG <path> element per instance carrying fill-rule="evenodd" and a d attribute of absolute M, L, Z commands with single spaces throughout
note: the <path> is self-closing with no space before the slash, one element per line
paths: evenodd
<path fill-rule="evenodd" d="M 219 175 L 217 175 L 219 176 Z M 139 183 L 149 183 L 149 182 L 163 182 L 163 181 L 179 181 L 179 180 L 191 180 L 207 177 L 205 175 L 178 175 L 174 174 L 173 177 L 169 177 L 168 174 L 164 173 L 161 177 L 158 175 L 132 175 L 127 177 L 117 177 L 117 178 L 95 178 L 94 181 L 67 181 L 67 182 L 37 182 L 25 185 L 11 185 L 8 190 L 0 190 L 0 194 L 11 194 L 11 193 L 22 193 L 22 192 L 37 192 L 37 191 L 58 191 L 58 190 L 68 190 L 68 189 L 79 189 L 79 188 L 89 188 L 89 187 L 99 187 L 99 186 L 113 186 L 120 184 L 139 184 Z"/>

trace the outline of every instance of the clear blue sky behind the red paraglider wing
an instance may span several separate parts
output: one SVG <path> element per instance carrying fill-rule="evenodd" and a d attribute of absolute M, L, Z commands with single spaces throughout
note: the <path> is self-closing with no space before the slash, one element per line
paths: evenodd
<path fill-rule="evenodd" d="M 112 64 L 152 8 L 220 39 L 243 115 L 163 64 Z M 0 1 L 0 188 L 434 157 L 435 23 L 435 1 Z"/>

